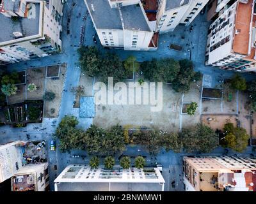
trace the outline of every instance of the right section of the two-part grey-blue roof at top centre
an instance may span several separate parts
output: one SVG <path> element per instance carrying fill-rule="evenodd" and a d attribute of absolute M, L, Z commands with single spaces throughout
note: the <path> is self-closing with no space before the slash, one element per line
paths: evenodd
<path fill-rule="evenodd" d="M 124 19 L 124 29 L 135 29 L 150 32 L 150 27 L 147 24 L 147 20 L 142 9 L 143 8 L 140 7 L 140 4 L 123 6 L 121 8 L 122 17 Z"/>

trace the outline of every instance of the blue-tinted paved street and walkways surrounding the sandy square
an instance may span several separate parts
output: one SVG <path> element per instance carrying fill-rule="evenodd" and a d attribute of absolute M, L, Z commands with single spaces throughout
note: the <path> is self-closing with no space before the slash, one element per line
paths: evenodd
<path fill-rule="evenodd" d="M 72 6 L 72 3 L 76 3 L 75 6 Z M 77 15 L 81 13 L 81 17 Z M 78 117 L 79 111 L 78 108 L 73 108 L 73 102 L 75 96 L 70 92 L 71 87 L 75 87 L 79 82 L 79 77 L 81 71 L 77 68 L 77 48 L 79 47 L 79 36 L 81 26 L 85 26 L 84 33 L 84 45 L 94 45 L 92 40 L 92 35 L 95 34 L 95 29 L 92 26 L 92 20 L 88 17 L 86 20 L 83 20 L 83 16 L 86 15 L 86 6 L 84 1 L 73 0 L 68 1 L 63 8 L 63 32 L 61 34 L 62 40 L 62 52 L 61 54 L 51 55 L 48 57 L 43 57 L 36 61 L 20 62 L 18 64 L 11 64 L 8 66 L 9 70 L 24 70 L 26 68 L 47 66 L 51 64 L 56 64 L 59 62 L 67 63 L 67 77 L 65 79 L 65 87 L 67 92 L 62 93 L 61 107 L 58 119 L 44 119 L 42 124 L 29 124 L 26 128 L 9 128 L 8 126 L 0 127 L 0 143 L 11 142 L 15 140 L 27 140 L 26 134 L 29 132 L 31 135 L 31 140 L 46 140 L 48 145 L 52 140 L 53 133 L 55 131 L 58 122 L 65 115 L 75 115 Z M 67 34 L 67 20 L 70 18 L 69 30 L 70 34 Z M 153 57 L 173 57 L 175 59 L 189 59 L 190 53 L 186 44 L 191 50 L 191 59 L 195 63 L 195 70 L 201 71 L 204 74 L 211 75 L 212 77 L 222 77 L 230 78 L 233 73 L 230 71 L 223 71 L 218 68 L 211 68 L 204 66 L 204 53 L 206 45 L 206 34 L 208 23 L 205 22 L 205 15 L 198 15 L 195 21 L 193 22 L 194 29 L 192 33 L 189 32 L 189 27 L 177 27 L 173 33 L 163 34 L 159 38 L 159 48 L 156 52 L 133 52 L 133 51 L 124 51 L 124 50 L 106 50 L 100 46 L 99 39 L 97 46 L 102 52 L 115 52 L 122 59 L 125 59 L 129 55 L 135 55 L 138 61 L 150 60 Z M 184 36 L 184 40 L 181 40 L 181 36 Z M 182 52 L 176 52 L 170 50 L 168 46 L 170 43 L 183 43 L 184 48 Z M 28 63 L 28 65 L 26 64 Z M 252 79 L 254 75 L 247 73 L 243 74 L 248 80 Z M 52 123 L 56 124 L 55 127 L 52 126 Z M 81 119 L 79 118 L 79 123 L 83 126 L 84 129 L 88 128 L 92 124 L 92 119 Z M 37 129 L 35 127 L 38 127 Z M 40 130 L 46 128 L 45 130 Z M 3 133 L 5 132 L 5 133 Z M 223 149 L 218 148 L 212 152 L 211 155 L 222 155 Z M 246 150 L 246 154 L 252 152 L 251 148 Z M 67 166 L 67 164 L 74 163 L 88 163 L 88 156 L 86 152 L 74 150 L 68 153 L 61 153 L 57 148 L 56 152 L 52 152 L 48 148 L 49 154 L 49 172 L 50 172 L 50 188 L 51 191 L 54 191 L 53 180 L 56 176 Z M 84 157 L 72 158 L 73 154 L 79 154 Z M 149 165 L 157 163 L 163 164 L 163 176 L 166 180 L 166 191 L 182 191 L 184 186 L 182 184 L 182 156 L 189 154 L 175 154 L 172 151 L 170 152 L 161 152 L 156 159 L 150 156 L 147 152 L 143 151 L 141 147 L 128 147 L 127 151 L 124 154 L 132 155 L 143 155 L 147 156 L 147 163 Z M 230 152 L 230 155 L 234 154 Z M 116 156 L 118 157 L 118 156 Z M 152 157 L 152 158 L 151 158 Z M 116 158 L 116 161 L 118 159 Z M 54 169 L 54 166 L 57 166 L 57 170 Z M 175 187 L 172 187 L 172 182 L 175 181 Z"/>

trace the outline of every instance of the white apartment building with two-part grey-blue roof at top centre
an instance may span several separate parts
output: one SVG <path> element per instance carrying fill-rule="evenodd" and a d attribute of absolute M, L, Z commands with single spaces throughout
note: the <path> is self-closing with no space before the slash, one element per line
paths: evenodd
<path fill-rule="evenodd" d="M 100 43 L 108 48 L 154 50 L 154 31 L 140 0 L 84 0 Z"/>

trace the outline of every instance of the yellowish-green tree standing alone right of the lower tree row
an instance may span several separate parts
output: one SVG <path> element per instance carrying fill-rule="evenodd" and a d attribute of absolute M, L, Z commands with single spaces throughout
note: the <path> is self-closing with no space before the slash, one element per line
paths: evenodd
<path fill-rule="evenodd" d="M 224 126 L 224 134 L 223 147 L 231 148 L 237 152 L 243 152 L 246 149 L 250 138 L 246 129 L 235 128 L 234 124 L 229 122 Z"/>

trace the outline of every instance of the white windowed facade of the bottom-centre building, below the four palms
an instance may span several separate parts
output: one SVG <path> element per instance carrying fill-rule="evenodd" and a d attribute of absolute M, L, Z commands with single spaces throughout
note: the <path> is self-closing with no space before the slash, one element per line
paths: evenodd
<path fill-rule="evenodd" d="M 164 183 L 157 168 L 123 169 L 116 165 L 109 170 L 104 166 L 91 168 L 84 164 L 70 164 L 54 182 L 66 183 Z"/>

